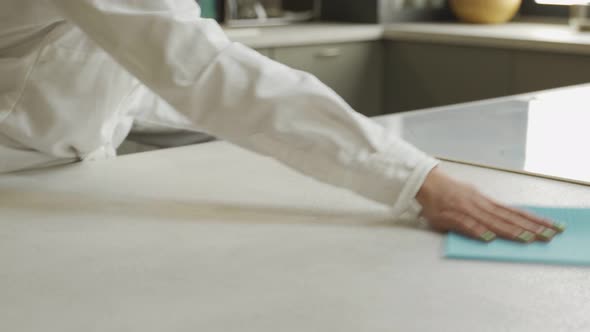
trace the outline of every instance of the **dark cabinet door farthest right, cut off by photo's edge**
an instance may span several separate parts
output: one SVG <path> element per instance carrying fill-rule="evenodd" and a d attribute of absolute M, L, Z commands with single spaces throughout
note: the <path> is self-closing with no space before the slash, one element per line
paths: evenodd
<path fill-rule="evenodd" d="M 590 56 L 514 52 L 513 92 L 530 92 L 590 82 Z"/>

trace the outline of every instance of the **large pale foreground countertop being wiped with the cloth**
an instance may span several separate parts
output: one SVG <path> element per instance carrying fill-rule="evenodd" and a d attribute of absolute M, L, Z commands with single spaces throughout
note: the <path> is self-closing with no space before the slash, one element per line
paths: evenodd
<path fill-rule="evenodd" d="M 441 167 L 590 207 L 586 186 Z M 590 330 L 590 269 L 444 259 L 443 235 L 225 142 L 1 175 L 0 215 L 2 331 Z"/>

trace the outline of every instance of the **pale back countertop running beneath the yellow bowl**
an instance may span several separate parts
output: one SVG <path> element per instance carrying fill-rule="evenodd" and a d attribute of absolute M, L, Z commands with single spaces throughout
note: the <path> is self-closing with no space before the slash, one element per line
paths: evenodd
<path fill-rule="evenodd" d="M 326 23 L 264 28 L 227 28 L 226 32 L 230 39 L 254 48 L 385 39 L 590 54 L 589 32 L 577 32 L 568 25 L 553 23 L 510 22 L 499 25 Z"/>

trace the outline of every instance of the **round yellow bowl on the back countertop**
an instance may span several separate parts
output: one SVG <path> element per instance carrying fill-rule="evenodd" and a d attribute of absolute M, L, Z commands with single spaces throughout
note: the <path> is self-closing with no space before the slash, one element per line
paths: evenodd
<path fill-rule="evenodd" d="M 521 0 L 449 0 L 451 10 L 468 23 L 504 23 L 516 15 Z"/>

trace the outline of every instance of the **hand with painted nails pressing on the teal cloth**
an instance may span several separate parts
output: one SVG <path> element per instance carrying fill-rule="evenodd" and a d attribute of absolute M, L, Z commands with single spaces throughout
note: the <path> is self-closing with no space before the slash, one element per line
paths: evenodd
<path fill-rule="evenodd" d="M 422 217 L 438 231 L 455 231 L 482 241 L 497 236 L 519 242 L 550 241 L 565 225 L 492 201 L 473 187 L 434 168 L 418 191 Z"/>

